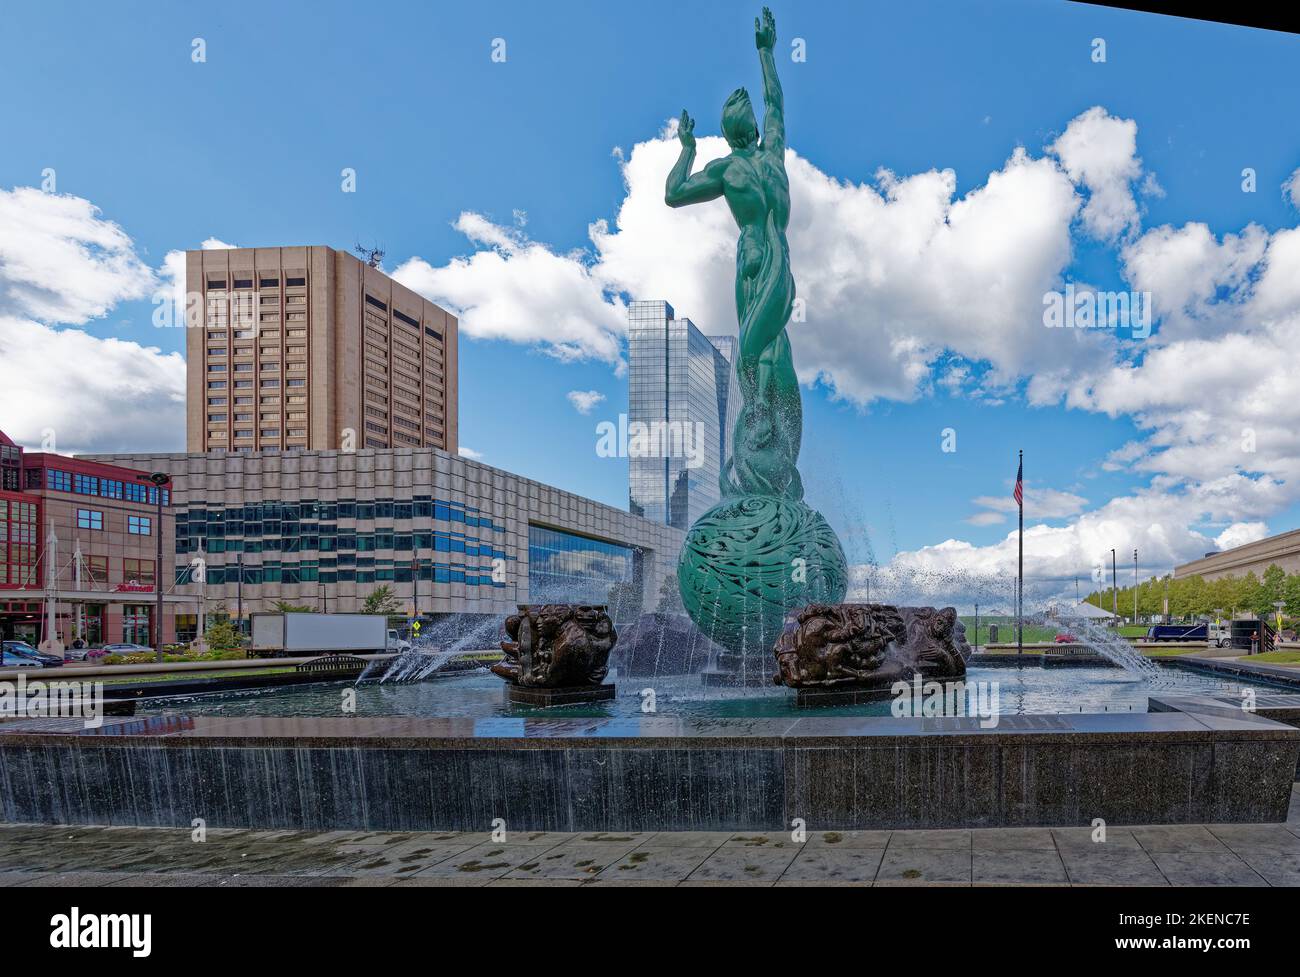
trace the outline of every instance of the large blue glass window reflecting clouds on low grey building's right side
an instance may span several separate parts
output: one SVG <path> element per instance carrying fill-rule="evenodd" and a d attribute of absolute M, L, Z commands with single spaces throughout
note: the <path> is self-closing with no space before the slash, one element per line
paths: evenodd
<path fill-rule="evenodd" d="M 608 604 L 615 622 L 641 613 L 641 555 L 549 526 L 528 526 L 528 599 Z"/>

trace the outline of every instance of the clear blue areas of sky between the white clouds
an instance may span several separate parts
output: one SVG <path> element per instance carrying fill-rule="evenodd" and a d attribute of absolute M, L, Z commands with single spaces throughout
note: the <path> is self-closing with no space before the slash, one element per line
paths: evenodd
<path fill-rule="evenodd" d="M 0 188 L 38 186 L 53 168 L 58 192 L 98 207 L 153 268 L 208 238 L 377 242 L 390 272 L 412 257 L 442 266 L 481 249 L 452 226 L 463 212 L 514 225 L 556 255 L 590 253 L 589 225 L 612 222 L 628 194 L 614 147 L 655 139 L 682 107 L 701 135 L 714 134 L 732 88 L 760 90 L 757 12 L 754 3 L 560 0 L 14 5 L 0 29 Z M 952 169 L 962 197 L 1015 147 L 1041 157 L 1071 120 L 1102 107 L 1136 123 L 1143 173 L 1162 190 L 1136 197 L 1135 236 L 1192 221 L 1216 236 L 1296 223 L 1280 191 L 1300 166 L 1294 36 L 1050 0 L 776 3 L 774 12 L 789 144 L 828 177 L 870 183 L 880 168 L 900 178 Z M 1108 47 L 1101 65 L 1089 58 L 1097 36 Z M 205 64 L 191 61 L 192 38 L 205 40 Z M 504 64 L 490 57 L 494 38 L 506 40 Z M 792 38 L 806 40 L 806 62 L 789 60 Z M 344 166 L 358 171 L 355 194 L 339 192 Z M 1258 192 L 1242 192 L 1244 166 L 1257 170 Z M 1122 286 L 1114 242 L 1074 234 L 1071 253 L 1066 279 Z M 734 329 L 703 321 L 676 294 L 624 298 L 667 299 L 706 333 Z M 151 312 L 129 300 L 69 325 L 179 349 L 182 334 L 153 329 Z M 870 317 L 852 327 L 863 349 L 878 342 Z M 793 327 L 792 340 L 798 362 Z M 1131 342 L 1121 334 L 1117 355 L 1141 362 Z M 1062 368 L 1070 356 L 1062 347 Z M 941 362 L 931 360 L 933 375 Z M 1030 375 L 1002 396 L 931 385 L 911 401 L 806 387 L 809 500 L 841 531 L 867 526 L 848 540 L 850 556 L 885 563 L 949 538 L 996 546 L 1010 522 L 966 520 L 974 498 L 1009 495 L 1019 447 L 1031 485 L 1087 499 L 1084 512 L 1149 490 L 1158 469 L 1102 469 L 1109 452 L 1145 437 L 1134 413 L 1031 405 Z M 582 416 L 572 390 L 606 400 Z M 594 452 L 595 424 L 625 403 L 608 361 L 462 340 L 460 438 L 490 464 L 625 505 L 625 463 Z M 0 426 L 4 416 L 0 405 Z M 958 431 L 956 453 L 939 450 L 945 427 Z M 1190 521 L 1214 537 L 1230 522 L 1291 529 L 1300 513 L 1290 491 L 1245 509 Z M 1118 538 L 1122 522 L 1113 535 L 1122 551 L 1141 542 L 1136 530 Z M 1171 552 L 1186 557 L 1187 544 Z M 1043 573 L 1067 577 L 1089 563 L 1076 552 Z"/>

